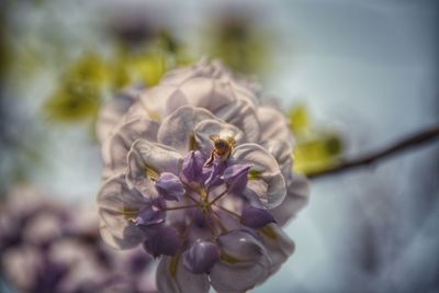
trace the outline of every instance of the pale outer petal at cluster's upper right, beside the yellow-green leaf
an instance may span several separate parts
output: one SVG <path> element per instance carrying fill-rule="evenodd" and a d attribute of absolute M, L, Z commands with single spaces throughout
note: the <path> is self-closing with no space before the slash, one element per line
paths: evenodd
<path fill-rule="evenodd" d="M 259 106 L 257 115 L 260 122 L 261 140 L 283 139 L 293 143 L 289 124 L 282 112 L 271 106 Z"/>

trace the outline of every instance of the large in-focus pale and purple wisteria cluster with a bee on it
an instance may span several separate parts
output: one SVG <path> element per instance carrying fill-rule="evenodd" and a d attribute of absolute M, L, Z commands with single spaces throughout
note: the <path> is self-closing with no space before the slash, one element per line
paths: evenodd
<path fill-rule="evenodd" d="M 281 227 L 307 202 L 282 113 L 219 63 L 131 89 L 100 114 L 101 235 L 160 257 L 160 292 L 245 292 L 294 250 Z"/>

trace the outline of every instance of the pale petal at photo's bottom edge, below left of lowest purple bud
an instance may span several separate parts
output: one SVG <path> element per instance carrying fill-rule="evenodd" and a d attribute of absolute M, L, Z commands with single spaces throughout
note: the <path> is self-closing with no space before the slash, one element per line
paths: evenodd
<path fill-rule="evenodd" d="M 162 293 L 207 293 L 211 286 L 207 275 L 189 272 L 181 257 L 162 256 L 156 275 L 157 289 Z"/>

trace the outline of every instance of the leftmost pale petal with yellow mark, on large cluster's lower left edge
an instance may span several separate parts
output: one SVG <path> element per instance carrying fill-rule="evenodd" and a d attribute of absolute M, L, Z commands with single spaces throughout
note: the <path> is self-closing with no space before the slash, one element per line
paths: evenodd
<path fill-rule="evenodd" d="M 142 233 L 132 221 L 146 203 L 140 193 L 128 189 L 124 174 L 106 180 L 98 193 L 99 215 L 109 232 L 120 239 L 142 240 Z"/>

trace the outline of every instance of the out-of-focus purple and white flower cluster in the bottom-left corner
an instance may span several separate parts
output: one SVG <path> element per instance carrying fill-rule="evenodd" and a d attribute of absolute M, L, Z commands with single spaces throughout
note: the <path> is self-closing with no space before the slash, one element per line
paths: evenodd
<path fill-rule="evenodd" d="M 15 188 L 0 212 L 0 279 L 26 293 L 153 293 L 151 257 L 109 249 L 95 211 Z M 1 290 L 0 290 L 1 291 Z"/>

